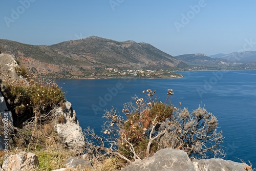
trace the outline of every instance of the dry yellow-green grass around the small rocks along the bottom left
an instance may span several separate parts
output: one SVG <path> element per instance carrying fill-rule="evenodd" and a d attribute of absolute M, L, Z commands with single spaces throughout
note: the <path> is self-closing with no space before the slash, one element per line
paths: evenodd
<path fill-rule="evenodd" d="M 29 129 L 29 127 L 31 129 Z M 39 166 L 33 171 L 38 170 L 54 170 L 65 168 L 65 162 L 70 157 L 75 156 L 75 152 L 65 148 L 60 142 L 57 134 L 53 131 L 52 124 L 26 126 L 26 129 L 19 130 L 19 137 L 15 137 L 15 143 L 19 143 L 18 148 L 11 148 L 8 155 L 18 154 L 22 151 L 31 152 L 37 155 Z M 26 144 L 25 142 L 29 142 Z M 15 145 L 17 147 L 17 145 Z M 5 153 L 0 151 L 0 161 L 4 161 Z M 104 161 L 99 162 L 92 160 L 92 166 L 78 166 L 75 171 L 96 171 L 96 170 L 120 170 L 122 164 L 119 158 L 105 158 Z M 68 169 L 67 169 L 68 170 Z"/>

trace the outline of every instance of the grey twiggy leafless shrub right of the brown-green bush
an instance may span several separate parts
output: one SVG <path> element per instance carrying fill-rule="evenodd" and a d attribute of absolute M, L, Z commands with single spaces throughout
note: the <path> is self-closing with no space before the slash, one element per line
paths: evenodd
<path fill-rule="evenodd" d="M 182 149 L 190 158 L 225 157 L 222 131 L 217 118 L 203 108 L 189 113 L 178 110 L 166 124 L 166 133 L 158 139 L 158 148 Z"/>

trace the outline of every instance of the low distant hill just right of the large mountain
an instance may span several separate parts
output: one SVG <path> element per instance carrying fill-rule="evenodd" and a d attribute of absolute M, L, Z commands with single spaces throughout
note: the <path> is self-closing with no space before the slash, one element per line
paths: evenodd
<path fill-rule="evenodd" d="M 175 56 L 175 58 L 182 60 L 187 65 L 191 66 L 218 66 L 221 64 L 219 58 L 210 58 L 203 53 L 186 54 Z"/>

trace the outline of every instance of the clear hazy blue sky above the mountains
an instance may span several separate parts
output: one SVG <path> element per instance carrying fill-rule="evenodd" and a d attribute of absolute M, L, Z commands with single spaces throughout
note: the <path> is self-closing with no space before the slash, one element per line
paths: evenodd
<path fill-rule="evenodd" d="M 0 38 L 32 45 L 91 35 L 170 54 L 256 50 L 256 0 L 1 0 Z"/>

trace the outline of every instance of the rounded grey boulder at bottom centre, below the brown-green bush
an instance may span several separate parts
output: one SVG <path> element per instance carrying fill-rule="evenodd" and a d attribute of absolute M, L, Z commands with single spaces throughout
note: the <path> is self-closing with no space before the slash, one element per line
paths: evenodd
<path fill-rule="evenodd" d="M 141 161 L 135 161 L 122 169 L 123 171 L 191 171 L 194 164 L 190 161 L 187 154 L 179 149 L 164 148 L 157 151 L 152 157 Z"/>

